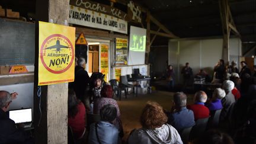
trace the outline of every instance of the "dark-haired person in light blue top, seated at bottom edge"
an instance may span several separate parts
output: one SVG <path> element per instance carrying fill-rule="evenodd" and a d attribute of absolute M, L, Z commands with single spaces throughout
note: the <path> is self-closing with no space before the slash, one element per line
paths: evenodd
<path fill-rule="evenodd" d="M 95 143 L 120 143 L 119 130 L 112 124 L 117 117 L 117 109 L 114 105 L 107 104 L 100 109 L 101 120 L 92 123 L 89 130 L 89 144 Z"/>

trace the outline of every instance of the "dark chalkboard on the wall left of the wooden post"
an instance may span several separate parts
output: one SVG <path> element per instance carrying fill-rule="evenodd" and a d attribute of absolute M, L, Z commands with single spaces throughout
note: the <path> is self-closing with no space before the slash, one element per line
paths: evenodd
<path fill-rule="evenodd" d="M 34 65 L 35 24 L 0 18 L 0 66 Z"/>

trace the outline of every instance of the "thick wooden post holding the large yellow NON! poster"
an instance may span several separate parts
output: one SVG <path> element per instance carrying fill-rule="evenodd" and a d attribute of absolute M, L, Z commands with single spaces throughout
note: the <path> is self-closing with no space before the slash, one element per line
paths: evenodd
<path fill-rule="evenodd" d="M 36 54 L 34 73 L 34 127 L 36 143 L 68 143 L 68 84 L 41 87 L 41 97 L 37 96 L 39 23 L 53 21 L 68 24 L 69 0 L 36 1 Z M 40 107 L 39 107 L 40 105 Z M 41 113 L 40 113 L 41 109 Z"/>

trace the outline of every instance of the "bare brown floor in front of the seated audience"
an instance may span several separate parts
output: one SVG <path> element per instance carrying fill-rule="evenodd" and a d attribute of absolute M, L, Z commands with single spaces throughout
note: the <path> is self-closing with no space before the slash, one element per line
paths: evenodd
<path fill-rule="evenodd" d="M 129 133 L 133 129 L 138 129 L 141 127 L 139 123 L 139 117 L 142 113 L 142 108 L 145 107 L 147 101 L 156 101 L 166 110 L 171 110 L 172 107 L 172 95 L 173 92 L 166 91 L 153 91 L 151 94 L 145 95 L 128 95 L 127 99 L 122 95 L 121 101 L 117 100 L 119 108 L 121 111 L 121 120 L 123 123 L 124 137 L 123 140 L 126 141 Z M 193 103 L 193 95 L 187 95 L 188 104 Z"/>

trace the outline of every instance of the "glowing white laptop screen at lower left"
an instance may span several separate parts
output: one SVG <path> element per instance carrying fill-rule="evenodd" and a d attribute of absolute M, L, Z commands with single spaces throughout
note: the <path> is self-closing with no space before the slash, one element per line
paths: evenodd
<path fill-rule="evenodd" d="M 10 110 L 9 119 L 12 119 L 15 123 L 27 123 L 32 121 L 32 108 L 26 108 L 22 110 Z"/>

